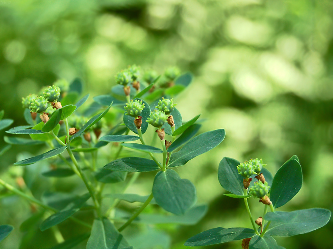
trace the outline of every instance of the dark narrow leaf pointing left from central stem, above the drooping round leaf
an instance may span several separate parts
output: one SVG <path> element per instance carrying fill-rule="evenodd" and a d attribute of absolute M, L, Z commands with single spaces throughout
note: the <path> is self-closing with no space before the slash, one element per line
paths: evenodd
<path fill-rule="evenodd" d="M 103 167 L 113 171 L 147 172 L 160 167 L 153 160 L 141 157 L 124 157 L 114 160 Z"/>

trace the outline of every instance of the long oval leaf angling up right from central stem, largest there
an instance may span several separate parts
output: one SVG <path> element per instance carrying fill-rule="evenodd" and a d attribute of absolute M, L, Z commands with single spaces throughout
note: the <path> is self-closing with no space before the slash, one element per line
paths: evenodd
<path fill-rule="evenodd" d="M 194 157 L 219 145 L 225 136 L 224 129 L 212 130 L 197 135 L 187 142 L 178 152 L 172 153 L 169 167 L 181 166 Z"/>

